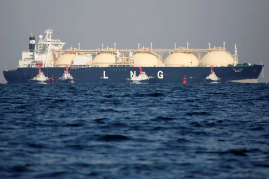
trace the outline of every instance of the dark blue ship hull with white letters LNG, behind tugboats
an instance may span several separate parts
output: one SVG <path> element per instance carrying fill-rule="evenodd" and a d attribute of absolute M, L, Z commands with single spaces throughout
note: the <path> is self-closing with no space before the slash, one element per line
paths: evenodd
<path fill-rule="evenodd" d="M 228 81 L 248 82 L 258 79 L 263 65 L 240 67 L 213 67 L 219 82 Z M 54 78 L 62 76 L 65 67 L 44 67 L 45 76 Z M 138 67 L 87 67 L 69 68 L 70 74 L 76 83 L 123 83 L 126 78 L 139 75 Z M 152 83 L 182 83 L 184 75 L 187 83 L 205 83 L 210 74 L 210 67 L 142 67 L 148 76 L 153 76 Z M 4 71 L 8 83 L 28 83 L 38 74 L 38 68 L 18 68 L 13 71 Z"/>

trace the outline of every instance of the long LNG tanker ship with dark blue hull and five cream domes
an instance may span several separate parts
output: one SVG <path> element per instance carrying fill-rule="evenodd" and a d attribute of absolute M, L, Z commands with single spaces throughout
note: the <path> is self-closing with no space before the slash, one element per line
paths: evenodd
<path fill-rule="evenodd" d="M 120 50 L 104 48 L 62 50 L 65 42 L 52 38 L 53 30 L 39 36 L 30 34 L 29 49 L 22 52 L 22 59 L 16 70 L 4 71 L 8 83 L 28 83 L 40 73 L 54 79 L 62 78 L 65 70 L 76 83 L 126 83 L 130 79 L 143 79 L 149 83 L 257 83 L 264 65 L 238 63 L 237 47 L 234 55 L 223 47 L 207 49 L 140 48 Z M 166 58 L 163 59 L 164 54 Z M 145 77 L 150 77 L 145 79 Z M 139 81 L 138 81 L 139 82 Z"/>

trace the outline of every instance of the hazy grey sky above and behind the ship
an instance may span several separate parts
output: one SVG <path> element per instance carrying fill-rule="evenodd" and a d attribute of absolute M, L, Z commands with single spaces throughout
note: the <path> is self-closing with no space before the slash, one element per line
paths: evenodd
<path fill-rule="evenodd" d="M 16 69 L 29 36 L 43 35 L 66 42 L 63 49 L 114 47 L 222 47 L 239 63 L 265 64 L 258 82 L 269 82 L 268 0 L 0 0 L 0 82 L 2 71 Z"/>

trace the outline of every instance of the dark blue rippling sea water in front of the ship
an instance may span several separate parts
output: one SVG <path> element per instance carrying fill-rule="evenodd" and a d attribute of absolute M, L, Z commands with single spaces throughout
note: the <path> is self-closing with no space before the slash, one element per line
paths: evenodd
<path fill-rule="evenodd" d="M 0 178 L 269 178 L 269 86 L 1 84 Z"/>

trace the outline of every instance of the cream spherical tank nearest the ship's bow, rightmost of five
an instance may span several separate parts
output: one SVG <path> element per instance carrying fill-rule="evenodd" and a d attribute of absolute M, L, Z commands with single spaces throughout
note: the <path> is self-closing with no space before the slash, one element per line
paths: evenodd
<path fill-rule="evenodd" d="M 200 67 L 220 66 L 226 67 L 229 64 L 233 64 L 233 57 L 225 51 L 213 51 L 209 52 L 200 61 Z"/>

